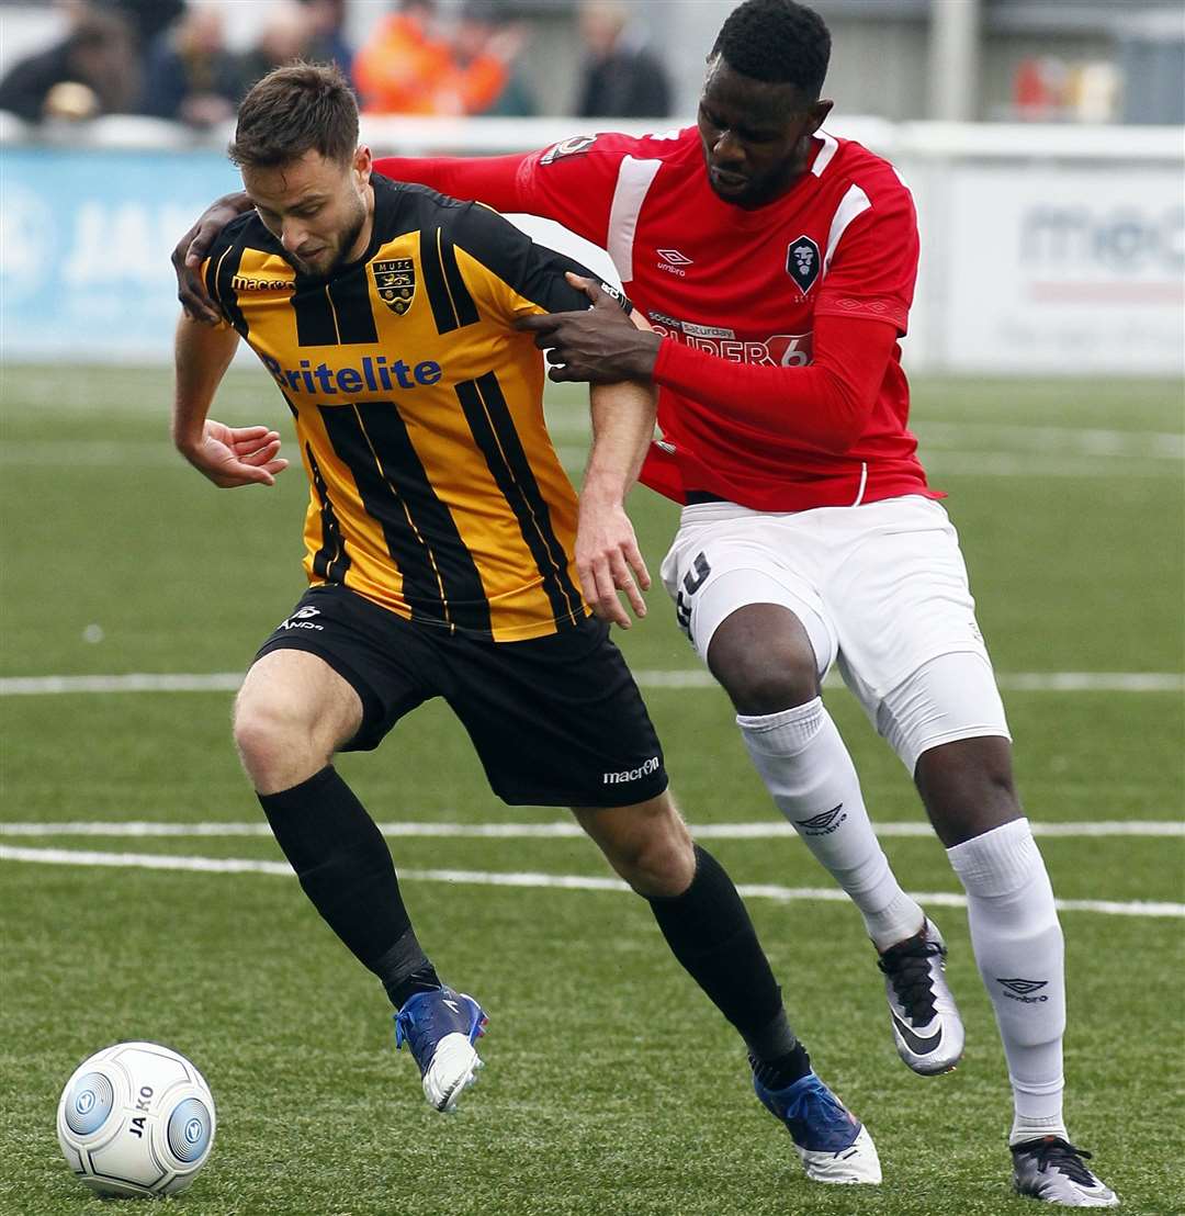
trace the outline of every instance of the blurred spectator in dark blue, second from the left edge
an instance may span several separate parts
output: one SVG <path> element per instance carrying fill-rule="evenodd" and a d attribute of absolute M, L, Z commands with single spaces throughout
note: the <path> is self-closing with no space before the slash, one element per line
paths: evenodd
<path fill-rule="evenodd" d="M 148 47 L 140 108 L 191 126 L 235 116 L 246 90 L 238 60 L 226 47 L 222 7 L 198 4 Z"/>

